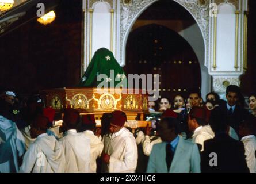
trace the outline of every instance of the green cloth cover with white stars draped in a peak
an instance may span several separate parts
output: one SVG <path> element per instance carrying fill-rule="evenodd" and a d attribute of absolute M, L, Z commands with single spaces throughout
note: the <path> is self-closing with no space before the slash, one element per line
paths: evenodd
<path fill-rule="evenodd" d="M 110 73 L 110 70 L 114 70 L 113 74 Z M 97 76 L 100 74 L 106 76 L 97 81 Z M 117 84 L 123 87 L 127 85 L 123 68 L 114 58 L 113 53 L 106 48 L 100 48 L 94 53 L 93 59 L 91 59 L 85 74 L 80 79 L 78 87 L 99 87 L 100 83 L 100 87 L 102 87 L 102 82 L 108 83 L 108 87 L 116 87 Z"/>

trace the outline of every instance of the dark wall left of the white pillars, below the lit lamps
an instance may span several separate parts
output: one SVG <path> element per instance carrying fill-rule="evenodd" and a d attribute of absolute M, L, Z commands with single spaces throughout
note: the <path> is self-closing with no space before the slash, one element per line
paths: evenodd
<path fill-rule="evenodd" d="M 54 11 L 51 24 L 34 19 L 0 35 L 0 86 L 4 89 L 37 93 L 72 87 L 79 81 L 82 1 L 60 1 Z"/>

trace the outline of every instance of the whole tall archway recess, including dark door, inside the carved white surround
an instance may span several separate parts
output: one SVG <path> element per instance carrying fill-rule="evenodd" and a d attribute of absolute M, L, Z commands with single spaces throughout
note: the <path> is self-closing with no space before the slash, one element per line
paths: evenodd
<path fill-rule="evenodd" d="M 161 0 L 149 6 L 134 21 L 125 45 L 127 73 L 159 74 L 159 95 L 173 97 L 198 87 L 204 96 L 210 90 L 202 33 L 179 3 Z"/>

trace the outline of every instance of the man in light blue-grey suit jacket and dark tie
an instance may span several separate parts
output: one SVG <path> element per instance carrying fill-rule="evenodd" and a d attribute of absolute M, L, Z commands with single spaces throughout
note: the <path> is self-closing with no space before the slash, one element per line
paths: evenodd
<path fill-rule="evenodd" d="M 163 142 L 152 148 L 147 173 L 201 172 L 198 147 L 178 135 L 176 118 L 163 118 L 158 132 Z"/>

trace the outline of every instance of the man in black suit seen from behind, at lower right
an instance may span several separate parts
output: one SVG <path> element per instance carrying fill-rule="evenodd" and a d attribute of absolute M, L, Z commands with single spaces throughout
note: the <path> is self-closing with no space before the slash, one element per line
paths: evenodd
<path fill-rule="evenodd" d="M 204 142 L 201 171 L 207 173 L 247 173 L 244 145 L 228 136 L 226 115 L 219 109 L 211 112 L 209 124 L 215 132 L 213 139 Z"/>

